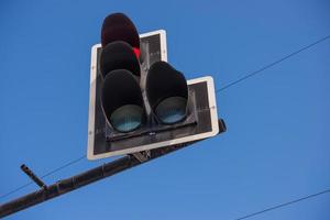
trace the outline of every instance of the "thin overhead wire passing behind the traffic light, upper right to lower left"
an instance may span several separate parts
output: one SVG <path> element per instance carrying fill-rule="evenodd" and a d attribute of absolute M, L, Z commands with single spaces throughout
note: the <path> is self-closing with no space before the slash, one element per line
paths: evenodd
<path fill-rule="evenodd" d="M 319 43 L 321 43 L 321 42 L 324 42 L 326 40 L 329 40 L 329 38 L 330 38 L 330 35 L 327 35 L 327 36 L 324 36 L 324 37 L 321 37 L 321 38 L 319 38 L 318 41 L 316 41 L 316 42 L 314 42 L 314 43 L 311 43 L 311 44 L 308 44 L 308 45 L 301 47 L 300 50 L 298 50 L 298 51 L 296 51 L 296 52 L 293 52 L 293 53 L 290 53 L 290 54 L 288 54 L 288 55 L 286 55 L 286 56 L 284 56 L 284 57 L 282 57 L 282 58 L 279 58 L 279 59 L 277 59 L 277 61 L 275 61 L 275 62 L 273 62 L 273 63 L 271 63 L 271 64 L 265 65 L 264 67 L 262 67 L 262 68 L 260 68 L 260 69 L 257 69 L 257 70 L 254 70 L 254 72 L 252 72 L 252 73 L 249 73 L 249 74 L 244 75 L 243 77 L 241 77 L 241 78 L 239 78 L 239 79 L 237 79 L 237 80 L 234 80 L 234 81 L 232 81 L 232 82 L 230 82 L 230 84 L 228 84 L 228 85 L 221 87 L 220 89 L 217 89 L 216 92 L 222 91 L 222 90 L 228 89 L 228 88 L 230 88 L 230 87 L 232 87 L 232 86 L 234 86 L 234 85 L 237 85 L 237 84 L 239 84 L 239 82 L 241 82 L 241 81 L 244 81 L 244 80 L 251 78 L 252 76 L 255 76 L 255 75 L 257 75 L 257 74 L 260 74 L 260 73 L 262 73 L 262 72 L 264 72 L 264 70 L 266 70 L 266 69 L 268 69 L 268 68 L 271 68 L 271 67 L 273 67 L 273 66 L 275 66 L 275 65 L 277 65 L 277 64 L 279 64 L 279 63 L 282 63 L 282 62 L 284 62 L 284 61 L 286 61 L 286 59 L 288 59 L 288 58 L 290 58 L 290 57 L 293 57 L 293 56 L 295 56 L 295 55 L 298 55 L 299 53 L 301 53 L 301 52 L 304 52 L 304 51 L 306 51 L 306 50 L 308 50 L 308 48 L 310 48 L 310 47 L 312 47 L 312 46 L 316 46 L 317 44 L 319 44 Z M 52 175 L 52 174 L 54 174 L 54 173 L 56 173 L 56 172 L 58 172 L 58 170 L 62 170 L 62 169 L 64 169 L 64 168 L 66 168 L 66 167 L 68 167 L 68 166 L 70 166 L 70 165 L 73 165 L 73 164 L 76 164 L 77 162 L 81 161 L 81 160 L 85 158 L 85 157 L 86 157 L 86 155 L 82 155 L 82 156 L 80 156 L 80 157 L 78 157 L 78 158 L 76 158 L 76 160 L 74 160 L 74 161 L 72 161 L 72 162 L 69 162 L 69 163 L 67 163 L 67 164 L 65 164 L 65 165 L 63 165 L 63 166 L 59 166 L 59 167 L 57 167 L 57 168 L 55 168 L 55 169 L 52 169 L 52 170 L 48 172 L 47 174 L 43 175 L 42 178 L 44 178 L 44 177 L 46 177 L 46 176 L 50 176 L 50 175 Z M 7 196 L 9 196 L 9 195 L 12 195 L 12 194 L 14 194 L 14 193 L 16 193 L 16 191 L 19 191 L 19 190 L 25 188 L 25 187 L 28 187 L 28 186 L 31 185 L 32 183 L 33 183 L 33 182 L 30 182 L 30 183 L 24 184 L 24 185 L 22 185 L 22 186 L 20 186 L 20 187 L 18 187 L 18 188 L 15 188 L 15 189 L 13 189 L 13 190 L 7 193 L 7 194 L 1 195 L 1 196 L 0 196 L 0 199 L 7 197 Z"/>

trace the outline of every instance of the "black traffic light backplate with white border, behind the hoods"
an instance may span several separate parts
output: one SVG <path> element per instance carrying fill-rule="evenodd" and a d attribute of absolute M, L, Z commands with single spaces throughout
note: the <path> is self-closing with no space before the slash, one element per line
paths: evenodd
<path fill-rule="evenodd" d="M 163 30 L 140 35 L 141 41 L 141 88 L 145 87 L 145 77 L 152 64 L 167 62 L 166 33 Z M 147 128 L 140 135 L 116 139 L 109 135 L 107 119 L 100 100 L 102 75 L 99 59 L 101 44 L 92 46 L 90 66 L 90 101 L 88 121 L 88 160 L 105 158 L 114 155 L 176 145 L 217 135 L 219 123 L 216 107 L 212 77 L 187 80 L 189 92 L 189 118 L 177 125 Z M 144 91 L 143 91 L 144 92 Z M 193 112 L 193 113 L 191 113 Z"/>

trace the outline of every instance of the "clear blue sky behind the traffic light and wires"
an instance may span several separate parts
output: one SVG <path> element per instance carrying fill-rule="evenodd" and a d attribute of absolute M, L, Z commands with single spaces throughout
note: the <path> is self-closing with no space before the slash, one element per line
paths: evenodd
<path fill-rule="evenodd" d="M 166 30 L 169 63 L 221 88 L 329 35 L 329 0 L 2 0 L 0 195 L 30 182 L 22 163 L 44 175 L 86 154 L 90 48 L 109 13 Z M 330 40 L 218 92 L 227 133 L 8 219 L 233 220 L 328 189 L 329 57 Z M 328 194 L 252 219 L 328 220 L 329 207 Z"/>

